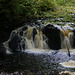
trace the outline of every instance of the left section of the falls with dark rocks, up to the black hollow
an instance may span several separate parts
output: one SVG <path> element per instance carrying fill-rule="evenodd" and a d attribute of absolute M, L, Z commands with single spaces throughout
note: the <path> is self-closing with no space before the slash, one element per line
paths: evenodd
<path fill-rule="evenodd" d="M 7 51 L 25 51 L 25 49 L 48 49 L 47 37 L 40 28 L 21 27 L 13 30 L 8 41 L 4 42 Z"/>

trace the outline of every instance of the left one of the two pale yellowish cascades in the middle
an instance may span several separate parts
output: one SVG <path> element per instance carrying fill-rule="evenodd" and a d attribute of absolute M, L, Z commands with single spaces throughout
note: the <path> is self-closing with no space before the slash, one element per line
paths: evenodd
<path fill-rule="evenodd" d="M 27 31 L 23 32 L 23 37 L 26 39 L 26 48 L 27 49 L 33 49 L 34 43 L 33 43 L 33 27 L 29 27 Z"/>

